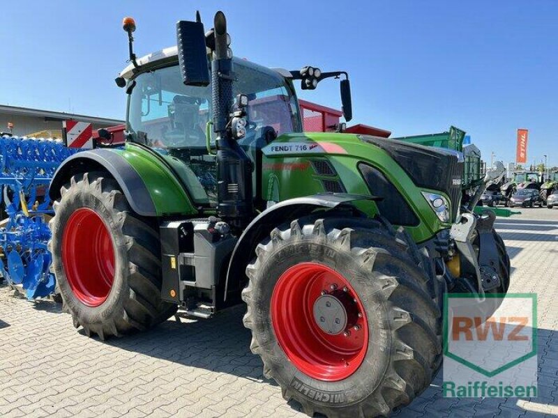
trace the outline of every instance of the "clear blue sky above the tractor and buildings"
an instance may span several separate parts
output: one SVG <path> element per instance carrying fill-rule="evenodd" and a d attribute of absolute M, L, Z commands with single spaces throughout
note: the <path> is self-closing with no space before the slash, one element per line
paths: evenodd
<path fill-rule="evenodd" d="M 353 121 L 393 137 L 466 130 L 485 160 L 558 166 L 558 1 L 5 1 L 0 104 L 124 118 L 124 16 L 138 56 L 176 45 L 177 20 L 227 16 L 232 49 L 269 67 L 346 70 Z M 299 96 L 340 108 L 338 84 Z"/>

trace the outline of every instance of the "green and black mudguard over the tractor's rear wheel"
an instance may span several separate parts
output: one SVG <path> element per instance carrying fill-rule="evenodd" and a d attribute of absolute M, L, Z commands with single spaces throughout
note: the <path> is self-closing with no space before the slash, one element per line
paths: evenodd
<path fill-rule="evenodd" d="M 125 149 L 96 149 L 66 159 L 54 173 L 50 198 L 59 199 L 60 188 L 77 173 L 107 171 L 119 184 L 138 215 L 194 215 L 197 213 L 179 176 L 155 151 L 126 145 Z"/>

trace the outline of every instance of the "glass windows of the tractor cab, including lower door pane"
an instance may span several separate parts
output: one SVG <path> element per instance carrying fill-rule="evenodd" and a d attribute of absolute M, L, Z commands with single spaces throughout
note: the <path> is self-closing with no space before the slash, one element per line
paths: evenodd
<path fill-rule="evenodd" d="M 234 60 L 233 93 L 248 95 L 246 137 L 240 144 L 252 158 L 270 130 L 301 132 L 296 96 L 278 72 Z M 215 157 L 206 147 L 211 121 L 211 86 L 185 86 L 179 66 L 159 68 L 135 77 L 128 102 L 130 139 L 151 146 L 178 171 L 195 203 L 213 206 L 217 200 Z M 211 130 L 213 135 L 213 130 Z M 213 138 L 214 140 L 214 138 Z M 177 161 L 179 160 L 179 161 Z M 255 189 L 255 188 L 254 188 Z"/>

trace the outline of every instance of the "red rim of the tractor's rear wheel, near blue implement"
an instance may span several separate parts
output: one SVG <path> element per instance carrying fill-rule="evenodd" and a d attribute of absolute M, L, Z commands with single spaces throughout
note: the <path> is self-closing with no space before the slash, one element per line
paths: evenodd
<path fill-rule="evenodd" d="M 80 208 L 62 235 L 62 265 L 75 297 L 89 307 L 103 304 L 114 279 L 114 245 L 103 219 Z"/>

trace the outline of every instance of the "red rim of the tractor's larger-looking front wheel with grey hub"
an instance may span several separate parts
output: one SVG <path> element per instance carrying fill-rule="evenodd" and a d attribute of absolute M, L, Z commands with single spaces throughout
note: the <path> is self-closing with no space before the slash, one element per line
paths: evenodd
<path fill-rule="evenodd" d="M 335 310 L 324 314 L 328 302 Z M 318 263 L 300 263 L 281 275 L 271 296 L 271 324 L 290 362 L 317 380 L 351 376 L 368 348 L 359 296 L 345 277 Z"/>

